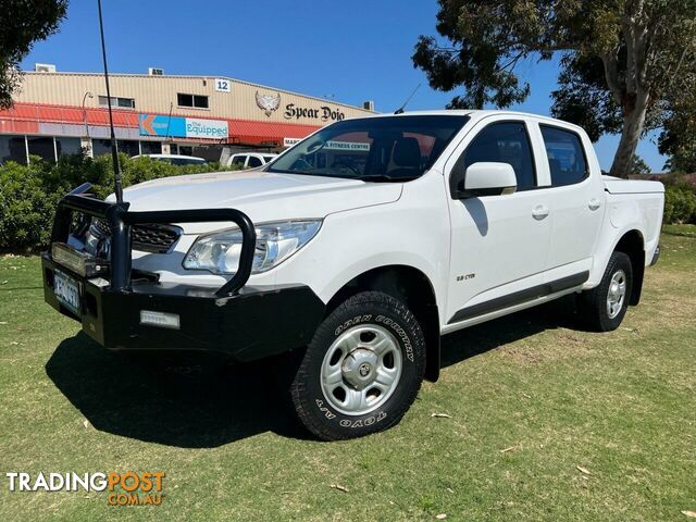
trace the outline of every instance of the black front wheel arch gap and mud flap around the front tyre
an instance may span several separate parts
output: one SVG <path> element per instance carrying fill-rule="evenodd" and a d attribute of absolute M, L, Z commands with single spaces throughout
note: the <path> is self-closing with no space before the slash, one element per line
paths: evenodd
<path fill-rule="evenodd" d="M 326 315 L 346 299 L 365 290 L 383 291 L 403 301 L 413 312 L 425 336 L 425 378 L 437 381 L 440 365 L 439 312 L 430 278 L 421 270 L 403 264 L 370 269 L 334 294 L 326 303 Z"/>

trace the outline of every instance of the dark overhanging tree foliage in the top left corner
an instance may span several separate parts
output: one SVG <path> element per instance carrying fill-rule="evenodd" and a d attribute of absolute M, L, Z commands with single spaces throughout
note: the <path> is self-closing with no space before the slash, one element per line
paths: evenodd
<path fill-rule="evenodd" d="M 0 0 L 0 109 L 12 104 L 20 62 L 35 41 L 58 30 L 66 10 L 67 0 Z"/>

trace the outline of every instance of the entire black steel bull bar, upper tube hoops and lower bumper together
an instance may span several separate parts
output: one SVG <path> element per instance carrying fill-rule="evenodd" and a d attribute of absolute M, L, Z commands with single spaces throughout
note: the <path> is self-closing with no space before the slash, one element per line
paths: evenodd
<path fill-rule="evenodd" d="M 235 209 L 132 212 L 128 203 L 90 197 L 89 188 L 89 184 L 80 185 L 59 202 L 52 248 L 42 257 L 44 295 L 46 302 L 79 321 L 84 332 L 99 344 L 112 349 L 222 351 L 248 361 L 309 343 L 324 314 L 324 303 L 309 287 L 246 286 L 256 245 L 256 231 L 246 214 Z M 109 224 L 108 259 L 97 259 L 70 245 L 73 229 L 75 234 L 85 231 L 80 216 Z M 222 287 L 160 283 L 156 276 L 142 276 L 132 269 L 133 225 L 192 222 L 233 222 L 243 234 L 238 269 Z M 53 247 L 58 247 L 60 263 L 52 257 Z M 80 263 L 85 259 L 90 260 L 89 269 Z M 72 279 L 71 299 L 77 293 L 77 308 L 72 301 L 70 308 L 59 301 L 57 270 Z M 63 291 L 64 277 L 60 281 Z M 169 314 L 167 327 L 142 319 L 162 314 Z"/>

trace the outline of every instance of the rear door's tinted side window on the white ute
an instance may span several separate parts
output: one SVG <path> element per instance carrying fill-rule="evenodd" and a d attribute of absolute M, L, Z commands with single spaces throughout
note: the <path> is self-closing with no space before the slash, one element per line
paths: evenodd
<path fill-rule="evenodd" d="M 558 127 L 548 125 L 539 125 L 539 127 L 551 172 L 551 186 L 573 185 L 587 177 L 587 162 L 580 137 L 575 133 Z"/>

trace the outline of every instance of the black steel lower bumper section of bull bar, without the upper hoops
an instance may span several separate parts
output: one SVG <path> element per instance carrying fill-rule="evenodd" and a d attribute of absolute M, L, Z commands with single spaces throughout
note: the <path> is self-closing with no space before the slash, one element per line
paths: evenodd
<path fill-rule="evenodd" d="M 246 286 L 217 297 L 215 288 L 134 281 L 128 291 L 113 291 L 100 286 L 99 278 L 82 277 L 55 263 L 48 253 L 41 264 L 46 302 L 111 349 L 211 350 L 249 361 L 307 345 L 324 314 L 324 303 L 301 285 Z M 55 297 L 57 269 L 78 283 L 79 313 Z M 141 324 L 142 310 L 177 314 L 178 330 Z"/>

